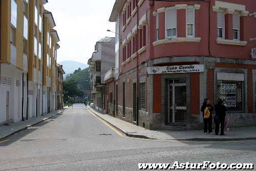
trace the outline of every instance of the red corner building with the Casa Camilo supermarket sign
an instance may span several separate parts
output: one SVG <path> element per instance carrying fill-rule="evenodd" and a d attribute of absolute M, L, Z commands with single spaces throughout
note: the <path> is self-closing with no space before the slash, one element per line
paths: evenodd
<path fill-rule="evenodd" d="M 116 0 L 115 117 L 199 129 L 204 98 L 221 98 L 231 126 L 255 125 L 255 17 L 250 0 Z"/>

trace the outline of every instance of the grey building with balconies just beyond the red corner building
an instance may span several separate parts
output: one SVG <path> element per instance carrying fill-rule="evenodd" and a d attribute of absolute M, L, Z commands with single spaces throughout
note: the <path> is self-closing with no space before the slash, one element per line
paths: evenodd
<path fill-rule="evenodd" d="M 94 108 L 106 113 L 105 73 L 115 67 L 115 38 L 104 37 L 96 42 L 95 52 L 88 60 Z"/>

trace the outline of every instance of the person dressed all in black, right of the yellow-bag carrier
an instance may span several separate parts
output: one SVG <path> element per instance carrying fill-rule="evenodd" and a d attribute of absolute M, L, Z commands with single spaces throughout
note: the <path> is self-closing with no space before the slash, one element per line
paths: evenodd
<path fill-rule="evenodd" d="M 226 117 L 226 111 L 227 108 L 224 105 L 226 103 L 225 100 L 219 99 L 218 104 L 215 105 L 215 118 L 214 122 L 216 124 L 215 127 L 215 134 L 219 135 L 219 127 L 221 125 L 221 134 L 220 135 L 225 135 L 224 134 L 224 123 L 225 123 L 225 117 Z"/>

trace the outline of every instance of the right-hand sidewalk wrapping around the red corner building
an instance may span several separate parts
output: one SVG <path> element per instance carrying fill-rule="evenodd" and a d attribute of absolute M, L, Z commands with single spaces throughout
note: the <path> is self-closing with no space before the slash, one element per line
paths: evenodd
<path fill-rule="evenodd" d="M 120 132 L 129 137 L 161 140 L 189 140 L 189 141 L 235 141 L 235 140 L 256 140 L 256 126 L 234 127 L 225 136 L 215 134 L 203 134 L 203 131 L 169 131 L 169 130 L 146 130 L 143 127 L 132 123 L 102 114 L 88 107 L 88 110 L 108 122 Z M 220 133 L 219 133 L 220 134 Z"/>

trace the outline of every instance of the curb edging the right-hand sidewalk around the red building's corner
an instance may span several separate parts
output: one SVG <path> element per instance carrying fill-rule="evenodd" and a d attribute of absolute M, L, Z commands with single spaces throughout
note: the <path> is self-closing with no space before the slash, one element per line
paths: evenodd
<path fill-rule="evenodd" d="M 128 137 L 132 138 L 142 138 L 142 139 L 150 139 L 150 140 L 172 140 L 172 141 L 243 141 L 243 140 L 256 140 L 256 137 L 249 137 L 249 138 L 222 138 L 222 139 L 217 139 L 217 138 L 189 138 L 189 139 L 156 139 L 156 138 L 150 138 L 144 135 L 136 135 L 136 134 L 130 134 L 129 132 L 124 131 L 120 127 L 116 126 L 115 124 L 111 123 L 110 121 L 102 118 L 100 115 L 95 113 L 94 110 L 87 108 L 89 111 L 91 111 L 93 114 L 95 114 L 97 117 L 99 117 L 101 120 L 109 123 L 111 126 L 115 127 L 118 131 L 121 133 L 125 134 Z"/>

